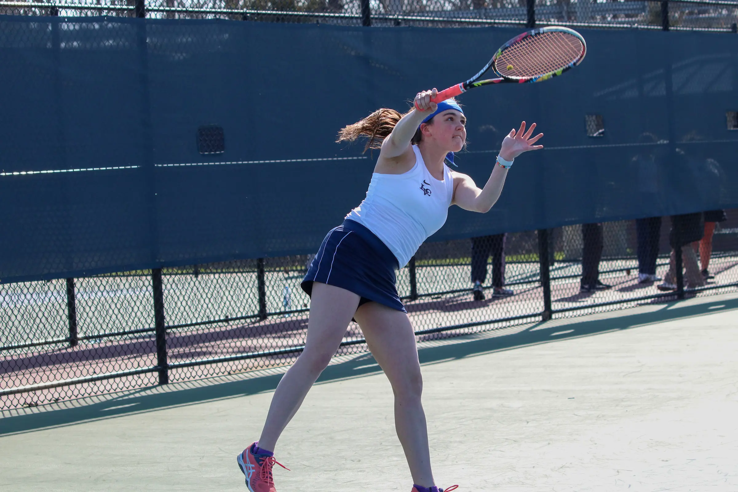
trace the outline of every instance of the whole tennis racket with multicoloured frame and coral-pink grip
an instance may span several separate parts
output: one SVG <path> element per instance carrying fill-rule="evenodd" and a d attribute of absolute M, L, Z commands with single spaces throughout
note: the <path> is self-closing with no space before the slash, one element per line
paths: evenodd
<path fill-rule="evenodd" d="M 587 44 L 575 30 L 541 27 L 526 31 L 500 46 L 477 75 L 438 92 L 431 100 L 440 103 L 474 87 L 489 84 L 542 82 L 579 65 L 586 54 Z M 497 77 L 480 80 L 489 69 Z"/>

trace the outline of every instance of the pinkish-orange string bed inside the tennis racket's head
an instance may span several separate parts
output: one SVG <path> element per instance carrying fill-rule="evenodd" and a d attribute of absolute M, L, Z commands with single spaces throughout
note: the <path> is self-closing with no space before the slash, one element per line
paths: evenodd
<path fill-rule="evenodd" d="M 541 32 L 508 46 L 494 69 L 504 77 L 537 77 L 573 63 L 583 48 L 579 38 L 566 32 Z"/>

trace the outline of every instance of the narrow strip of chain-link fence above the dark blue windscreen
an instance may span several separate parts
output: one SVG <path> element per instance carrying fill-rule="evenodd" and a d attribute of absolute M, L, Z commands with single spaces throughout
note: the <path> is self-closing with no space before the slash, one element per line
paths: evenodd
<path fill-rule="evenodd" d="M 82 0 L 0 1 L 7 15 L 113 15 L 462 27 L 581 27 L 737 31 L 738 1 L 590 0 Z"/>

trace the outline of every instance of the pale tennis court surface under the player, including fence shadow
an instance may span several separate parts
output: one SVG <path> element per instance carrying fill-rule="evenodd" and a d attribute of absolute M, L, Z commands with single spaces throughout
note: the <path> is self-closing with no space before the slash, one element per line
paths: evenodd
<path fill-rule="evenodd" d="M 438 485 L 738 491 L 738 295 L 422 342 Z M 283 369 L 4 412 L 1 491 L 245 491 L 235 455 Z M 277 491 L 401 491 L 390 385 L 337 358 L 277 448 Z"/>

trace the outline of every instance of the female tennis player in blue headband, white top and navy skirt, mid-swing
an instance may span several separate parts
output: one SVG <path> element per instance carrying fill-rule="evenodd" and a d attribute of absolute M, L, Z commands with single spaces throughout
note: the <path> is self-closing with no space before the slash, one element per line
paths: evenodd
<path fill-rule="evenodd" d="M 379 109 L 339 133 L 339 142 L 368 136 L 366 148 L 381 148 L 379 159 L 365 200 L 328 232 L 303 280 L 303 290 L 311 295 L 305 350 L 277 386 L 261 437 L 238 454 L 251 492 L 275 492 L 272 467 L 286 468 L 274 457 L 277 439 L 352 318 L 392 385 L 395 426 L 413 477 L 412 492 L 443 492 L 433 481 L 415 333 L 395 288 L 395 271 L 441 229 L 449 206 L 487 212 L 500 197 L 513 159 L 542 148 L 534 144 L 543 134 L 531 138 L 536 125 L 525 131 L 525 122 L 510 131 L 480 189 L 444 163 L 466 142 L 466 117 L 454 100 L 432 103 L 436 94 L 436 89 L 423 91 L 407 113 Z"/>

